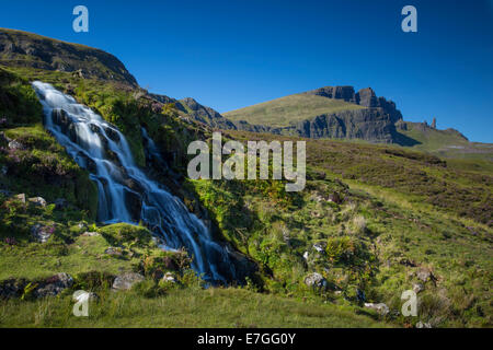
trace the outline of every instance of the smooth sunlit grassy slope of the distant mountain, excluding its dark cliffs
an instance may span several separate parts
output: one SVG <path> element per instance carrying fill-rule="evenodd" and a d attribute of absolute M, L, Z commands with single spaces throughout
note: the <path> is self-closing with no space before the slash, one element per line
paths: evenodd
<path fill-rule="evenodd" d="M 234 121 L 246 120 L 250 124 L 285 127 L 293 122 L 310 119 L 322 114 L 360 108 L 364 107 L 341 100 L 295 94 L 228 112 L 223 116 Z"/>

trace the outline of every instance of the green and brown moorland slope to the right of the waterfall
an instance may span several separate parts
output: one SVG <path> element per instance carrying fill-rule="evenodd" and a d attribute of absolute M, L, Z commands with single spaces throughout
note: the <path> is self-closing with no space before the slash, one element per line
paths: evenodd
<path fill-rule="evenodd" d="M 349 300 L 357 287 L 368 301 L 399 310 L 401 292 L 419 282 L 412 273 L 426 268 L 438 281 L 420 294 L 422 319 L 491 326 L 491 171 L 444 167 L 434 156 L 398 148 L 307 143 L 310 179 L 300 194 L 288 195 L 276 182 L 191 183 L 228 238 L 272 275 L 266 290 L 303 294 L 302 279 L 318 271 Z M 345 197 L 341 205 L 326 201 L 334 192 Z M 328 244 L 326 255 L 318 256 L 314 243 Z M 313 256 L 308 265 L 305 252 Z"/>

